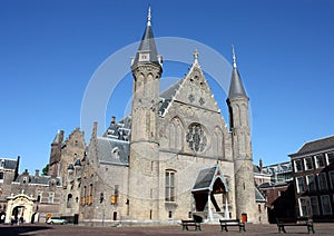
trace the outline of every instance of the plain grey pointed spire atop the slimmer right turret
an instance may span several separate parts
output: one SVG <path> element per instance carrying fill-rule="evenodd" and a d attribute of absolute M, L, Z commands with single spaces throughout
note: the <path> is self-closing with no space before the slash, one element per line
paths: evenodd
<path fill-rule="evenodd" d="M 233 57 L 233 70 L 232 70 L 232 79 L 230 79 L 230 85 L 229 85 L 228 98 L 229 99 L 233 97 L 246 97 L 247 98 L 243 81 L 240 79 L 239 71 L 237 69 L 234 46 L 232 46 L 232 57 Z"/>

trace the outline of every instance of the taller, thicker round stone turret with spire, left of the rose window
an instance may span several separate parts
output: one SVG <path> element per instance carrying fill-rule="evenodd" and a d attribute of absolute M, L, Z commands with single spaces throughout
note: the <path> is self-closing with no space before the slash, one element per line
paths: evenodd
<path fill-rule="evenodd" d="M 161 58 L 157 53 L 150 20 L 149 8 L 147 26 L 131 65 L 134 96 L 128 206 L 129 215 L 143 220 L 158 219 L 159 212 L 158 106 L 163 67 Z"/>

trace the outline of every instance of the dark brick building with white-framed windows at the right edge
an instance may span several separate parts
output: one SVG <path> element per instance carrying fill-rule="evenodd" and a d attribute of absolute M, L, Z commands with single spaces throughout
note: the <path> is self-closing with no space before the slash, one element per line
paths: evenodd
<path fill-rule="evenodd" d="M 288 156 L 297 216 L 334 222 L 334 136 L 308 141 Z"/>

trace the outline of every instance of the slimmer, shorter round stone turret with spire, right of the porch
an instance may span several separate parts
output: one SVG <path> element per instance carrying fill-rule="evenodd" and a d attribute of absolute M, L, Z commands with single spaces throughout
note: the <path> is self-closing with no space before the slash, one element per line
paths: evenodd
<path fill-rule="evenodd" d="M 227 105 L 233 139 L 236 215 L 242 217 L 243 214 L 247 214 L 249 222 L 256 222 L 248 102 L 249 98 L 246 95 L 237 69 L 236 55 L 233 47 L 233 71 Z"/>

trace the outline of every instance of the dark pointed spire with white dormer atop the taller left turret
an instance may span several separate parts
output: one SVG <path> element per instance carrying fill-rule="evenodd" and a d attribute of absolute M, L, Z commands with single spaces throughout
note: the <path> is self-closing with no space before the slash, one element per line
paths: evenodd
<path fill-rule="evenodd" d="M 141 38 L 140 46 L 138 48 L 137 55 L 135 59 L 131 61 L 131 66 L 136 66 L 138 63 L 156 63 L 159 65 L 157 48 L 154 39 L 154 33 L 151 29 L 151 10 L 150 7 L 148 8 L 147 14 L 147 26 Z"/>

